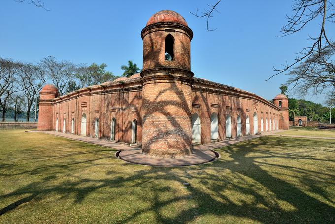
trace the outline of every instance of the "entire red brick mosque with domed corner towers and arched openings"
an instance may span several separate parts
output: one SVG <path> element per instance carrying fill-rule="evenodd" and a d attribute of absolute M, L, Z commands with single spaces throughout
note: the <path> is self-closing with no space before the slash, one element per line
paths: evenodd
<path fill-rule="evenodd" d="M 195 144 L 288 129 L 288 99 L 273 103 L 231 86 L 194 77 L 192 30 L 170 10 L 141 31 L 143 70 L 58 96 L 40 92 L 38 130 L 141 146 L 144 155 L 182 157 Z"/>

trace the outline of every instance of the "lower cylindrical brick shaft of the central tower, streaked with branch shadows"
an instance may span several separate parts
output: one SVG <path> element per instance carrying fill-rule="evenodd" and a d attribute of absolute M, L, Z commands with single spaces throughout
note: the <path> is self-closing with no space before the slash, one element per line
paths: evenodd
<path fill-rule="evenodd" d="M 166 157 L 191 153 L 191 86 L 178 80 L 143 84 L 143 152 Z"/>

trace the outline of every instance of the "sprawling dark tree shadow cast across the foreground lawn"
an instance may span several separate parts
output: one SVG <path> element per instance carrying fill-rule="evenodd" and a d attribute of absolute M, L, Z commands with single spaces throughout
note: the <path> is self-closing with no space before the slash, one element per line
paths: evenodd
<path fill-rule="evenodd" d="M 223 218 L 230 216 L 263 223 L 333 223 L 334 194 L 330 194 L 324 187 L 335 185 L 332 174 L 334 166 L 322 166 L 325 162 L 323 159 L 316 159 L 301 149 L 294 150 L 297 146 L 308 147 L 309 144 L 308 140 L 295 144 L 282 138 L 262 137 L 218 149 L 222 157 L 214 163 L 182 168 L 126 164 L 101 152 L 104 156 L 100 156 L 100 159 L 110 158 L 118 169 L 107 171 L 104 178 L 85 176 L 56 184 L 52 181 L 58 177 L 50 175 L 50 178 L 0 195 L 0 200 L 25 195 L 23 199 L 2 208 L 0 215 L 13 211 L 19 205 L 24 206 L 32 199 L 43 200 L 51 194 L 60 195 L 61 198 L 75 195 L 73 204 L 81 204 L 93 193 L 114 189 L 118 192 L 118 199 L 127 200 L 131 194 L 142 203 L 149 204 L 129 211 L 121 222 L 134 222 L 150 212 L 155 216 L 153 222 L 157 223 L 194 222 L 212 216 L 212 222 L 215 217 L 221 217 L 216 221 L 223 222 Z M 323 147 L 322 144 L 318 142 L 320 147 Z M 324 146 L 327 144 L 325 142 Z M 280 146 L 283 151 L 271 150 L 273 146 Z M 290 147 L 292 151 L 288 152 Z M 99 158 L 63 164 L 64 169 L 60 173 L 71 175 L 79 164 L 87 168 L 108 165 L 97 164 L 97 161 Z M 295 167 L 290 164 L 291 161 L 305 165 Z M 334 165 L 334 160 L 330 159 L 328 163 Z M 318 165 L 322 169 L 315 169 L 314 166 Z M 124 170 L 128 169 L 131 172 L 125 173 Z M 40 172 L 45 170 L 41 169 Z M 33 175 L 31 172 L 22 174 Z M 190 185 L 182 189 L 184 194 L 173 194 L 185 182 Z M 180 186 L 176 187 L 175 183 Z M 27 194 L 30 196 L 27 197 Z M 169 196 L 163 198 L 162 194 Z M 185 203 L 184 207 L 177 208 L 173 215 L 166 215 L 165 208 L 179 203 Z"/>

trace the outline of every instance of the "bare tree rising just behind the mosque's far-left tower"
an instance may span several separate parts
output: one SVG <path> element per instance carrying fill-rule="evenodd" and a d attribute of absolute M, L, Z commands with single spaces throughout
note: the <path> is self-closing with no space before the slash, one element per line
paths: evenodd
<path fill-rule="evenodd" d="M 53 56 L 43 58 L 38 64 L 46 76 L 57 87 L 59 93 L 67 92 L 67 84 L 75 77 L 75 66 L 71 62 L 57 61 Z"/>

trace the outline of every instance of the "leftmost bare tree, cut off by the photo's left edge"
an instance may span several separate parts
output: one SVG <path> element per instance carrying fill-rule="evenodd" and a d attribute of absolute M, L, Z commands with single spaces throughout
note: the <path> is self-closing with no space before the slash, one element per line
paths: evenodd
<path fill-rule="evenodd" d="M 2 121 L 6 121 L 6 112 L 12 100 L 11 96 L 19 91 L 16 79 L 17 63 L 11 59 L 0 58 L 0 110 Z"/>

